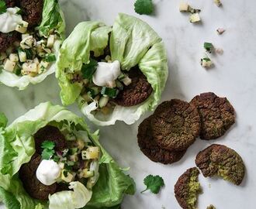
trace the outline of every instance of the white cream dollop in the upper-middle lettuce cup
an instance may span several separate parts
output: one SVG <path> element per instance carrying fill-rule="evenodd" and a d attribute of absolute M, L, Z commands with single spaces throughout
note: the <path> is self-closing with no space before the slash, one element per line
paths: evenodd
<path fill-rule="evenodd" d="M 93 74 L 92 82 L 99 87 L 104 87 L 108 82 L 115 81 L 120 74 L 119 61 L 116 60 L 112 63 L 99 62 L 95 74 Z"/>

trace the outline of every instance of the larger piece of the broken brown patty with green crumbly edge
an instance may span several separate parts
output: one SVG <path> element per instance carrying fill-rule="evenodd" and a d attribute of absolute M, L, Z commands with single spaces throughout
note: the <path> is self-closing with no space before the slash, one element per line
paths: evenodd
<path fill-rule="evenodd" d="M 236 185 L 244 179 L 243 159 L 227 146 L 213 144 L 203 149 L 197 154 L 195 164 L 205 177 L 221 176 Z"/>

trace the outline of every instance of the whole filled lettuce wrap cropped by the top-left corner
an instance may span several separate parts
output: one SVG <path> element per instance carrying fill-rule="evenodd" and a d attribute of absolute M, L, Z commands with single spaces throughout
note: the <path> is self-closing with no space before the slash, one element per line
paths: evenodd
<path fill-rule="evenodd" d="M 64 40 L 57 0 L 0 0 L 0 82 L 25 89 L 55 72 Z"/>

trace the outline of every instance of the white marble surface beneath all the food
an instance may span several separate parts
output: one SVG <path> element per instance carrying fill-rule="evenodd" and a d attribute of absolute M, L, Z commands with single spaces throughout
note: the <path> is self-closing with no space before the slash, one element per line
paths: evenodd
<path fill-rule="evenodd" d="M 202 24 L 192 25 L 189 15 L 178 12 L 179 0 L 157 0 L 156 15 L 140 18 L 147 21 L 164 39 L 168 50 L 170 76 L 162 101 L 181 98 L 189 101 L 195 94 L 213 91 L 227 96 L 237 112 L 237 123 L 230 131 L 215 141 L 198 139 L 178 163 L 164 166 L 147 159 L 137 146 L 137 125 L 118 122 L 114 126 L 100 128 L 101 141 L 122 166 L 130 166 L 130 174 L 137 182 L 137 194 L 126 197 L 123 209 L 170 208 L 178 209 L 173 187 L 187 168 L 195 166 L 195 155 L 199 150 L 216 142 L 230 146 L 243 157 L 247 166 L 244 182 L 240 187 L 223 180 L 206 179 L 200 175 L 203 194 L 199 197 L 199 208 L 214 204 L 217 209 L 254 209 L 256 195 L 256 1 L 222 0 L 223 8 L 213 0 L 191 0 L 191 5 L 202 9 Z M 61 1 L 67 19 L 67 33 L 83 20 L 102 20 L 112 24 L 118 12 L 133 12 L 133 1 L 129 0 L 69 0 Z M 223 27 L 223 36 L 216 29 Z M 204 70 L 199 59 L 203 53 L 202 43 L 213 42 L 223 48 L 222 56 L 213 56 L 215 67 Z M 30 86 L 26 91 L 1 86 L 0 111 L 4 111 L 10 122 L 41 101 L 61 104 L 59 87 L 54 76 L 42 84 Z M 79 114 L 78 108 L 68 107 Z M 148 174 L 163 176 L 166 186 L 158 195 L 145 193 L 143 179 Z"/>

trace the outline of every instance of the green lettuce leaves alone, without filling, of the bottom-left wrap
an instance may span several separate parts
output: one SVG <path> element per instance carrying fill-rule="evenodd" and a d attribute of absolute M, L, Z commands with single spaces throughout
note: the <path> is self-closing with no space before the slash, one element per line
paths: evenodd
<path fill-rule="evenodd" d="M 5 123 L 5 119 L 2 121 Z M 36 152 L 33 135 L 49 124 L 60 130 L 79 132 L 86 142 L 99 146 L 99 170 L 92 190 L 82 183 L 72 182 L 71 190 L 57 192 L 50 195 L 48 201 L 42 201 L 30 197 L 22 186 L 19 170 Z M 123 173 L 100 145 L 99 132 L 91 133 L 82 118 L 61 106 L 51 105 L 50 102 L 36 106 L 7 128 L 1 128 L 0 149 L 0 197 L 9 209 L 117 209 L 125 194 L 135 193 L 133 179 Z"/>

